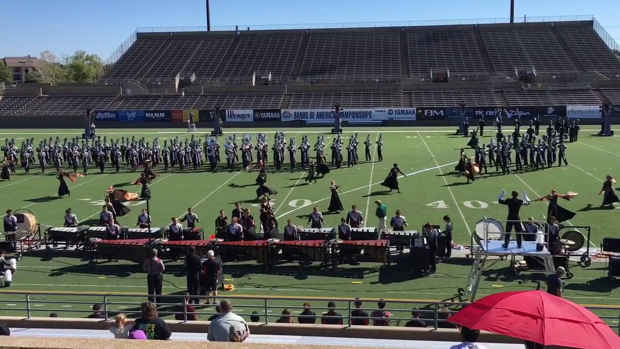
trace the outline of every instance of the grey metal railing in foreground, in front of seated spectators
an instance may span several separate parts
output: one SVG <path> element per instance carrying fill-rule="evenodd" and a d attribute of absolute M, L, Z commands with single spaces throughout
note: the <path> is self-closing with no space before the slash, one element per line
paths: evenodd
<path fill-rule="evenodd" d="M 7 299 L 10 297 L 10 299 Z M 130 317 L 138 317 L 140 314 L 140 304 L 146 301 L 146 295 L 138 294 L 71 294 L 71 300 L 66 299 L 54 299 L 66 298 L 66 294 L 51 293 L 51 292 L 1 292 L 0 293 L 0 310 L 4 314 L 11 312 L 11 315 L 19 315 L 30 318 L 36 317 L 37 314 L 48 312 L 69 312 L 82 317 L 88 313 L 92 313 L 92 304 L 100 304 L 100 314 L 103 315 L 102 319 L 110 320 L 118 313 L 124 313 L 130 315 Z M 197 305 L 195 312 L 188 310 L 188 300 L 190 296 L 185 294 L 164 294 L 157 297 L 158 313 L 160 317 L 166 317 L 174 315 L 179 320 L 188 321 L 193 319 L 194 316 L 200 317 L 201 315 L 208 317 L 215 315 L 214 304 L 201 304 Z M 208 301 L 213 299 L 210 296 L 191 296 L 192 298 L 198 298 L 200 301 Z M 458 296 L 457 296 L 458 297 Z M 346 325 L 348 327 L 353 325 L 355 320 L 378 320 L 381 322 L 387 321 L 392 326 L 399 325 L 400 322 L 407 322 L 413 318 L 407 315 L 412 312 L 412 308 L 415 308 L 415 312 L 420 314 L 418 320 L 422 320 L 427 323 L 428 327 L 434 327 L 435 329 L 446 326 L 444 323 L 448 319 L 449 315 L 458 312 L 464 306 L 469 305 L 469 302 L 461 302 L 460 299 L 455 301 L 407 301 L 407 300 L 385 300 L 385 306 L 383 309 L 379 307 L 367 307 L 369 304 L 376 304 L 378 299 L 352 299 L 352 298 L 313 298 L 313 297 L 251 297 L 251 296 L 219 296 L 218 299 L 229 299 L 233 304 L 233 311 L 237 315 L 241 315 L 246 320 L 252 320 L 254 323 L 270 324 L 276 322 L 274 318 L 290 317 L 291 319 L 299 319 L 300 317 L 314 317 L 321 323 L 321 319 L 336 320 L 337 324 Z M 80 300 L 87 299 L 87 300 Z M 298 305 L 293 305 L 291 302 L 295 302 Z M 316 315 L 302 315 L 301 312 L 296 310 L 306 309 L 303 302 L 334 302 L 337 306 L 331 309 L 327 307 L 313 306 L 314 310 L 333 310 L 336 313 L 342 312 L 340 315 L 325 315 L 320 311 Z M 355 302 L 361 302 L 361 306 L 356 307 Z M 7 307 L 7 305 L 17 307 Z M 19 307 L 21 306 L 21 307 Z M 82 309 L 68 309 L 73 307 L 82 307 Z M 237 309 L 237 310 L 235 310 Z M 291 315 L 281 314 L 284 309 L 292 310 Z M 603 307 L 603 306 L 588 306 L 592 312 L 598 315 L 603 321 L 608 323 L 611 329 L 614 329 L 620 335 L 620 307 Z M 365 310 L 370 316 L 368 317 L 355 317 L 352 315 L 352 310 Z M 373 316 L 373 312 L 377 310 L 379 312 L 390 312 L 389 317 Z M 272 314 L 270 314 L 272 313 Z M 133 315 L 133 316 L 131 316 Z M 48 314 L 43 315 L 45 317 Z M 259 320 L 255 321 L 254 317 L 258 317 Z M 206 318 L 205 318 L 206 319 Z M 205 320 L 200 319 L 200 320 Z M 263 320 L 261 320 L 263 319 Z M 328 323 L 332 322 L 328 321 Z M 614 323 L 615 322 L 615 323 Z"/>

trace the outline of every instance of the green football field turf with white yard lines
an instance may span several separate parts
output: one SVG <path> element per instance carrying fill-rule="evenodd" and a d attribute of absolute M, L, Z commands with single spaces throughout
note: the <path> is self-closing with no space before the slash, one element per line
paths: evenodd
<path fill-rule="evenodd" d="M 522 129 L 523 130 L 523 129 Z M 225 130 L 233 132 L 232 130 Z M 265 132 L 268 142 L 273 140 L 276 129 L 252 129 L 250 133 Z M 278 130 L 279 131 L 279 130 Z M 317 134 L 324 132 L 325 140 L 332 141 L 332 135 L 327 129 L 304 128 L 284 130 L 286 138 L 295 137 L 297 143 L 301 136 L 309 135 L 311 144 Z M 350 127 L 343 134 L 345 144 L 353 128 Z M 582 127 L 578 142 L 568 143 L 566 156 L 568 166 L 539 171 L 511 171 L 510 174 L 495 173 L 479 176 L 472 184 L 466 184 L 466 178 L 454 173 L 454 165 L 458 160 L 459 149 L 466 147 L 468 138 L 453 135 L 454 128 L 442 127 L 405 127 L 398 129 L 359 127 L 360 142 L 370 134 L 371 140 L 376 140 L 383 134 L 383 161 L 376 161 L 377 157 L 372 149 L 373 160 L 366 163 L 341 169 L 332 169 L 324 179 L 318 183 L 308 185 L 303 180 L 305 172 L 290 171 L 288 155 L 281 171 L 271 171 L 268 176 L 268 186 L 278 191 L 272 196 L 272 206 L 280 226 L 286 219 L 293 219 L 297 225 L 307 225 L 309 213 L 315 204 L 319 210 L 325 211 L 329 205 L 329 179 L 333 179 L 340 186 L 345 209 L 356 204 L 366 217 L 367 225 L 377 224 L 374 217 L 374 201 L 381 199 L 392 215 L 396 209 L 401 209 L 407 217 L 410 229 L 420 229 L 425 222 L 441 224 L 441 217 L 448 214 L 454 224 L 454 242 L 469 245 L 470 234 L 476 223 L 484 217 L 505 219 L 507 208 L 497 204 L 497 197 L 505 189 L 507 193 L 516 190 L 519 193 L 527 191 L 530 199 L 548 194 L 552 188 L 559 193 L 573 191 L 578 193 L 572 201 L 562 201 L 560 205 L 577 215 L 567 225 L 589 225 L 592 228 L 590 247 L 598 248 L 603 237 L 616 237 L 617 227 L 620 226 L 620 211 L 616 209 L 601 209 L 599 206 L 602 196 L 597 196 L 606 174 L 612 176 L 620 173 L 620 138 L 593 137 L 597 131 L 594 126 Z M 206 132 L 206 130 L 205 130 Z M 236 130 L 237 140 L 248 130 Z M 61 140 L 64 137 L 76 137 L 81 130 L 3 130 L 1 138 L 15 138 L 19 144 L 26 138 L 35 138 L 35 143 L 42 138 L 56 136 Z M 144 137 L 148 142 L 154 138 L 170 140 L 179 137 L 184 140 L 188 137 L 180 129 L 100 129 L 99 135 L 109 138 Z M 199 133 L 204 138 L 204 133 Z M 492 132 L 485 132 L 482 143 L 489 143 Z M 188 137 L 189 138 L 189 137 Z M 221 140 L 220 140 L 221 142 Z M 4 142 L 2 142 L 4 143 Z M 360 160 L 363 160 L 363 143 L 360 143 Z M 328 152 L 329 153 L 329 152 Z M 346 158 L 346 154 L 345 158 Z M 467 150 L 467 155 L 474 156 L 473 150 Z M 270 154 L 270 160 L 272 156 Z M 329 160 L 330 156 L 327 155 Z M 346 160 L 346 159 L 345 159 Z M 298 154 L 299 161 L 299 154 Z M 407 174 L 400 178 L 402 194 L 387 193 L 386 188 L 379 183 L 387 175 L 392 163 L 397 163 Z M 150 202 L 151 216 L 154 225 L 167 225 L 171 216 L 184 214 L 187 207 L 193 207 L 194 212 L 201 219 L 199 225 L 205 227 L 206 232 L 212 233 L 218 211 L 224 209 L 227 214 L 233 208 L 235 201 L 240 201 L 243 207 L 249 207 L 257 217 L 258 201 L 255 199 L 254 184 L 257 171 L 241 170 L 239 165 L 229 171 L 225 163 L 216 173 L 211 173 L 205 165 L 198 171 L 191 169 L 180 173 L 176 169 L 163 171 L 155 168 L 159 177 L 151 183 L 153 199 Z M 619 174 L 620 175 L 620 174 Z M 34 166 L 30 174 L 19 170 L 12 176 L 12 181 L 0 181 L 0 207 L 6 209 L 25 208 L 32 211 L 38 222 L 51 226 L 63 224 L 64 210 L 71 207 L 84 224 L 95 224 L 99 218 L 100 207 L 108 186 L 126 189 L 139 193 L 139 186 L 130 183 L 138 177 L 138 172 L 131 173 L 123 169 L 122 173 L 113 173 L 108 167 L 103 174 L 92 168 L 78 183 L 68 182 L 71 197 L 56 197 L 58 180 L 53 169 L 46 174 L 37 171 Z M 129 215 L 120 217 L 120 224 L 133 226 L 140 209 L 146 207 L 141 201 L 128 203 L 131 208 Z M 547 206 L 544 202 L 533 202 L 530 206 L 521 209 L 521 217 L 539 218 L 546 214 Z M 327 225 L 338 224 L 341 214 L 325 214 Z M 585 231 L 584 231 L 585 232 Z M 596 261 L 595 261 L 596 262 Z M 185 278 L 174 273 L 177 263 L 170 263 L 169 274 L 164 281 L 164 292 L 181 292 L 185 288 Z M 175 267 L 177 265 L 177 267 Z M 52 258 L 41 260 L 26 256 L 19 264 L 19 272 L 15 274 L 14 286 L 3 291 L 53 291 L 58 296 L 53 299 L 74 299 L 73 294 L 87 294 L 88 292 L 106 293 L 145 293 L 146 282 L 144 275 L 139 273 L 137 266 L 125 262 L 100 263 L 88 266 L 87 261 L 79 258 Z M 465 287 L 471 266 L 469 260 L 454 260 L 438 266 L 438 274 L 428 278 L 417 278 L 407 273 L 407 268 L 399 267 L 395 263 L 391 267 L 381 267 L 378 263 L 362 263 L 358 266 L 343 266 L 335 272 L 319 271 L 317 266 L 283 265 L 275 268 L 272 273 L 265 273 L 259 266 L 251 263 L 239 265 L 225 265 L 228 283 L 234 284 L 236 289 L 231 294 L 255 296 L 296 296 L 296 297 L 371 297 L 391 299 L 422 299 L 445 300 L 456 294 L 456 289 Z M 582 269 L 576 265 L 572 268 L 575 278 L 567 281 L 566 294 L 576 302 L 582 304 L 619 304 L 620 291 L 606 278 L 603 263 L 592 263 Z M 495 261 L 485 273 L 480 284 L 479 295 L 498 291 L 534 289 L 536 282 L 544 276 L 542 274 L 521 274 L 513 276 L 508 270 L 508 261 Z M 544 287 L 544 285 L 543 285 Z M 68 295 L 71 294 L 71 295 Z M 88 296 L 83 296 L 88 297 Z M 45 298 L 45 297 L 44 297 Z M 0 296 L 1 307 L 6 304 L 16 304 L 12 300 L 18 296 Z M 88 299 L 91 301 L 92 299 Z M 284 302 L 284 301 L 283 301 Z M 286 303 L 290 302 L 290 303 Z M 286 301 L 286 305 L 301 306 L 303 301 Z M 317 304 L 324 307 L 325 304 Z M 125 309 L 119 306 L 119 310 Z M 37 310 L 45 313 L 47 306 L 43 304 Z M 86 309 L 74 305 L 68 310 Z M 245 309 L 249 310 L 249 309 Z M 10 312 L 10 311 L 9 311 Z M 48 311 L 47 311 L 48 312 Z M 44 315 L 44 314 L 39 314 Z M 63 314 L 68 316 L 69 314 Z M 616 314 L 617 315 L 617 314 Z M 406 314 L 404 315 L 406 316 Z M 274 319 L 275 320 L 275 319 Z"/>

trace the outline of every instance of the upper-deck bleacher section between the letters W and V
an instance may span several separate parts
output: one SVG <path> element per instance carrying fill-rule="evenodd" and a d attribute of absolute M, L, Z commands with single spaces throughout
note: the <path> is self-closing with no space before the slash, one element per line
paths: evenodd
<path fill-rule="evenodd" d="M 250 79 L 254 72 L 272 73 L 276 79 L 291 76 L 301 38 L 301 35 L 242 36 L 219 77 Z"/>

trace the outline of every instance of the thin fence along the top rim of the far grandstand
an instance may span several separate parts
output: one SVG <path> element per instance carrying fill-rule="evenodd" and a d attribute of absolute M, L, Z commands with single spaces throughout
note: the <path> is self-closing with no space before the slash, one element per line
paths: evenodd
<path fill-rule="evenodd" d="M 515 17 L 516 23 L 564 22 L 574 20 L 593 20 L 594 16 L 538 16 Z M 291 29 L 337 29 L 337 28 L 375 28 L 375 27 L 414 27 L 420 25 L 458 25 L 458 24 L 496 24 L 510 23 L 510 17 L 473 18 L 473 19 L 438 19 L 438 20 L 399 20 L 380 22 L 340 22 L 340 23 L 302 23 L 302 24 L 250 24 L 250 25 L 211 25 L 211 30 L 291 30 Z M 138 27 L 136 32 L 204 32 L 202 25 L 188 27 Z"/>

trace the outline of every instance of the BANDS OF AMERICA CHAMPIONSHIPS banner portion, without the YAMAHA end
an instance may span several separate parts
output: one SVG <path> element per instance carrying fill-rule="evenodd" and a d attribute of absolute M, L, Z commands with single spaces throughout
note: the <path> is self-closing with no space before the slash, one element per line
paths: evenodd
<path fill-rule="evenodd" d="M 374 109 L 345 109 L 340 111 L 340 120 L 354 124 L 355 122 L 373 121 Z M 332 109 L 282 109 L 281 120 L 301 120 L 308 124 L 334 124 Z"/>

